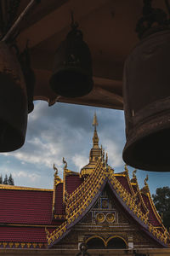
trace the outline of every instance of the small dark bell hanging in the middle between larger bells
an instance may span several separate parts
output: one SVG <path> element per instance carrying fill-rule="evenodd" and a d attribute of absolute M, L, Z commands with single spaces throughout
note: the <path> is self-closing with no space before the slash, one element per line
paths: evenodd
<path fill-rule="evenodd" d="M 82 32 L 72 26 L 54 57 L 54 73 L 50 85 L 59 96 L 85 96 L 93 89 L 92 61 Z"/>

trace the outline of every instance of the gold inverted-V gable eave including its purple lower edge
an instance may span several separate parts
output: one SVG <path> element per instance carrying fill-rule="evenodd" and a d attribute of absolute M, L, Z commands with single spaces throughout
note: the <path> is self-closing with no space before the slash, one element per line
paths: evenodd
<path fill-rule="evenodd" d="M 105 161 L 99 159 L 94 172 L 92 172 L 86 180 L 73 192 L 67 196 L 65 202 L 66 220 L 52 233 L 48 232 L 48 247 L 52 247 L 65 237 L 71 227 L 77 224 L 83 216 L 94 205 L 99 197 L 105 183 L 109 183 L 110 187 L 116 195 L 116 199 L 122 204 L 122 207 L 132 216 L 132 218 L 141 226 L 152 239 L 156 240 L 162 247 L 167 247 L 167 232 L 161 233 L 148 220 L 148 212 L 144 214 L 136 205 L 133 195 L 127 192 L 122 184 L 117 180 L 116 175 L 107 166 Z M 168 235 L 169 237 L 169 235 Z"/>

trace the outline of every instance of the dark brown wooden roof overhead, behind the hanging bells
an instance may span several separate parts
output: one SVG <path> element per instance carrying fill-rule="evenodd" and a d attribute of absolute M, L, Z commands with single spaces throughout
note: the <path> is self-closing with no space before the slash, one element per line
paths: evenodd
<path fill-rule="evenodd" d="M 20 15 L 30 1 L 18 2 Z M 165 3 L 155 0 L 153 7 L 165 9 Z M 20 50 L 29 40 L 37 79 L 34 99 L 48 101 L 49 105 L 70 102 L 123 109 L 123 64 L 138 43 L 135 26 L 142 8 L 142 0 L 42 0 L 37 4 L 21 22 L 17 38 Z M 71 10 L 91 50 L 94 70 L 94 90 L 88 96 L 73 99 L 54 94 L 48 83 L 55 50 L 70 30 Z"/>

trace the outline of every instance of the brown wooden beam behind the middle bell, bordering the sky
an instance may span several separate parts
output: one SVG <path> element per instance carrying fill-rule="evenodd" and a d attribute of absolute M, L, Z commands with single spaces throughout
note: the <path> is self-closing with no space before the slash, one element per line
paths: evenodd
<path fill-rule="evenodd" d="M 34 69 L 34 72 L 37 81 L 34 100 L 47 101 L 49 106 L 54 105 L 55 102 L 65 102 L 101 108 L 123 108 L 122 94 L 120 94 L 122 81 L 94 77 L 94 89 L 87 96 L 65 98 L 51 90 L 49 85 L 51 72 L 40 69 Z"/>

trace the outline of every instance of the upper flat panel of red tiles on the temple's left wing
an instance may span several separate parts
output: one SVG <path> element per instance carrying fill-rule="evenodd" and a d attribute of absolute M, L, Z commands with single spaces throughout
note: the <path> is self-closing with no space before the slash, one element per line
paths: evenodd
<path fill-rule="evenodd" d="M 0 190 L 0 223 L 53 224 L 53 191 Z"/>

